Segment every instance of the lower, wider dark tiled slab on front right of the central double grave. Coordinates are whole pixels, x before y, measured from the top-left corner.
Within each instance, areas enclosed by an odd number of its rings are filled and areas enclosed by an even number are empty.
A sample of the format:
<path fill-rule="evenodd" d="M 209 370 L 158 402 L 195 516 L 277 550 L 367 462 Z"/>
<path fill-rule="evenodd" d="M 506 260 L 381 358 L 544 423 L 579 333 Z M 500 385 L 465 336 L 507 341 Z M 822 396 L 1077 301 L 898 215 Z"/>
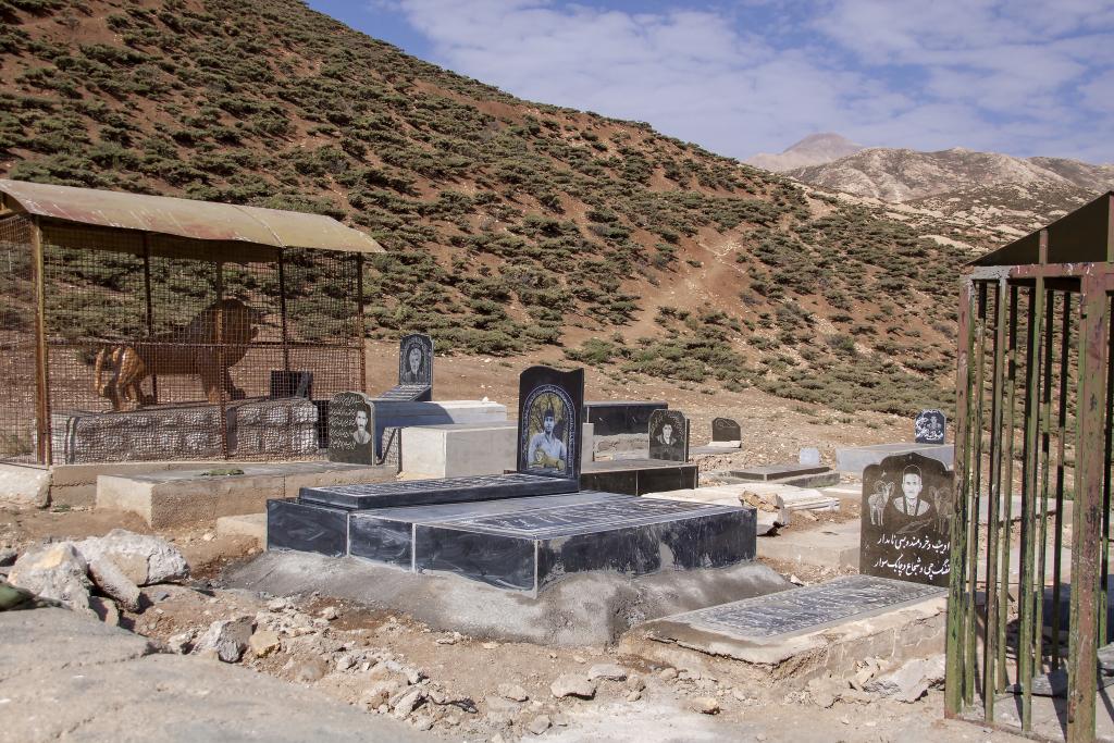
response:
<path fill-rule="evenodd" d="M 579 492 L 352 514 L 352 554 L 537 593 L 565 575 L 723 567 L 754 558 L 753 509 Z"/>

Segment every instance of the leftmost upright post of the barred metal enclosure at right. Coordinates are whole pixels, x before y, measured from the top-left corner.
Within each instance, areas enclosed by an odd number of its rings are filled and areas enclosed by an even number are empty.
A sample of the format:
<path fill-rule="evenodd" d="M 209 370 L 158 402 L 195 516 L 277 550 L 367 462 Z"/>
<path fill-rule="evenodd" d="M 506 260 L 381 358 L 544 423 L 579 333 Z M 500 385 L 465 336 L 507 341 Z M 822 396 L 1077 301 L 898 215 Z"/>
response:
<path fill-rule="evenodd" d="M 959 296 L 959 344 L 956 354 L 956 462 L 958 477 L 952 493 L 951 554 L 948 558 L 948 632 L 945 666 L 944 704 L 948 715 L 958 715 L 964 707 L 966 672 L 967 614 L 974 597 L 964 592 L 967 579 L 967 534 L 969 530 L 968 487 L 970 472 L 971 395 L 974 375 L 971 354 L 975 345 L 975 293 L 970 280 L 964 282 Z M 977 430 L 977 429 L 976 429 Z M 976 519 L 977 526 L 977 519 Z"/>

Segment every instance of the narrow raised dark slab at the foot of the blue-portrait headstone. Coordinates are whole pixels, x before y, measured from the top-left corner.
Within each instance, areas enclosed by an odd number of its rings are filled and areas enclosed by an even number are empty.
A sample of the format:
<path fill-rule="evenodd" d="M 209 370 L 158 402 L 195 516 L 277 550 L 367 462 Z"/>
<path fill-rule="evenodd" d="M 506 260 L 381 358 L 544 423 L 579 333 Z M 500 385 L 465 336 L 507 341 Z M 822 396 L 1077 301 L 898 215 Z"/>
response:
<path fill-rule="evenodd" d="M 576 482 L 563 478 L 516 472 L 302 488 L 299 500 L 355 510 L 547 496 L 576 490 Z"/>

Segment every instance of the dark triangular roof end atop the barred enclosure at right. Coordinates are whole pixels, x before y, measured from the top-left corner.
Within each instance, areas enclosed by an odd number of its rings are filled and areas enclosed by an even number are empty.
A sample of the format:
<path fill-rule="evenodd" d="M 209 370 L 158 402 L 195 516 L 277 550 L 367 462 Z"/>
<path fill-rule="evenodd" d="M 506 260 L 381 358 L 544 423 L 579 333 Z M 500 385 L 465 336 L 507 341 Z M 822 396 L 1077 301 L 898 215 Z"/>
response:
<path fill-rule="evenodd" d="M 1104 263 L 1114 257 L 1114 192 L 1106 192 L 1049 224 L 1048 263 Z M 973 266 L 1020 266 L 1040 262 L 1040 231 L 987 253 Z"/>

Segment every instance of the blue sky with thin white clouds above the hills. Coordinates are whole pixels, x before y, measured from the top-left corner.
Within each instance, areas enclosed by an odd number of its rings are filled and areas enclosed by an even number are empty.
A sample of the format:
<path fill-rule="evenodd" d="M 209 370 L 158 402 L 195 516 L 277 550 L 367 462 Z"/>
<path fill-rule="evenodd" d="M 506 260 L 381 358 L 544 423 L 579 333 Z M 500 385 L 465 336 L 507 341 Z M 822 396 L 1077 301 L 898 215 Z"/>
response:
<path fill-rule="evenodd" d="M 1114 162 L 1114 0 L 309 0 L 540 102 L 723 155 L 864 145 Z"/>

